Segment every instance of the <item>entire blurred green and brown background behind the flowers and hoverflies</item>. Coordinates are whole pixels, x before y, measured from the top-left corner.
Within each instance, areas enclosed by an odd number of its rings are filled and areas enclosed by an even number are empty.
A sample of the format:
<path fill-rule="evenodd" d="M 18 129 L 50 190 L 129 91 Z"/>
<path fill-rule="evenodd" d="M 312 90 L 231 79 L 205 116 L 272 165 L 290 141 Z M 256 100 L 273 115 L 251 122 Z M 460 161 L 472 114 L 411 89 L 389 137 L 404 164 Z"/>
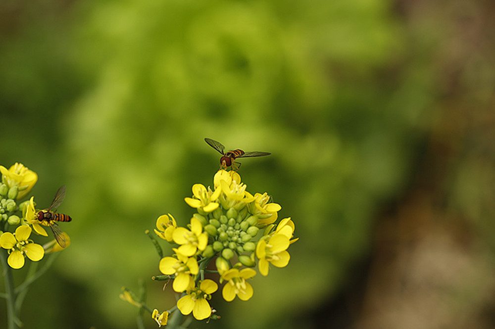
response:
<path fill-rule="evenodd" d="M 185 225 L 192 185 L 212 185 L 204 137 L 272 153 L 239 172 L 300 240 L 251 300 L 214 295 L 222 319 L 191 328 L 493 328 L 494 13 L 483 0 L 2 1 L 0 162 L 39 174 L 41 207 L 65 184 L 74 219 L 24 328 L 136 328 L 118 295 L 139 279 L 150 307 L 170 307 L 144 231 L 166 213 Z"/>

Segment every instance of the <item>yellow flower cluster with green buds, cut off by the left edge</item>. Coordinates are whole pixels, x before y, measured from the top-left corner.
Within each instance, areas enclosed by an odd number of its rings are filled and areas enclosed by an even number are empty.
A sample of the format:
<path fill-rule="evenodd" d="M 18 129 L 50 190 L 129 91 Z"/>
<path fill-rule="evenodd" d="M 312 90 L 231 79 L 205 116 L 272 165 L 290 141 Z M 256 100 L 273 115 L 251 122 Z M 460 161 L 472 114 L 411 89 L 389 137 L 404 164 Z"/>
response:
<path fill-rule="evenodd" d="M 38 175 L 20 163 L 15 163 L 9 169 L 0 166 L 0 173 L 0 225 L 3 230 L 0 231 L 0 247 L 7 250 L 7 264 L 13 269 L 20 269 L 26 257 L 36 262 L 45 253 L 61 250 L 54 247 L 53 243 L 44 247 L 30 238 L 33 230 L 38 235 L 48 236 L 40 224 L 51 224 L 36 219 L 34 197 L 18 203 L 18 200 L 29 194 L 38 181 Z M 69 241 L 68 236 L 63 235 Z"/>

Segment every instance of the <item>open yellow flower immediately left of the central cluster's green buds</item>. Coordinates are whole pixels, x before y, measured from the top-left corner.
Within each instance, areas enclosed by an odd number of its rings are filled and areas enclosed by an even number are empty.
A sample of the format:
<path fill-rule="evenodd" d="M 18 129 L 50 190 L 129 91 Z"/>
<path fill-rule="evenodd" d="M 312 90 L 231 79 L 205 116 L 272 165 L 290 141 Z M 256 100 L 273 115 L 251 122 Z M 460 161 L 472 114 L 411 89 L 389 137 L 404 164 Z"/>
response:
<path fill-rule="evenodd" d="M 177 253 L 184 256 L 192 256 L 197 250 L 203 251 L 208 244 L 208 234 L 203 232 L 201 223 L 196 218 L 191 218 L 191 231 L 178 227 L 173 233 L 174 242 L 180 244 Z"/>

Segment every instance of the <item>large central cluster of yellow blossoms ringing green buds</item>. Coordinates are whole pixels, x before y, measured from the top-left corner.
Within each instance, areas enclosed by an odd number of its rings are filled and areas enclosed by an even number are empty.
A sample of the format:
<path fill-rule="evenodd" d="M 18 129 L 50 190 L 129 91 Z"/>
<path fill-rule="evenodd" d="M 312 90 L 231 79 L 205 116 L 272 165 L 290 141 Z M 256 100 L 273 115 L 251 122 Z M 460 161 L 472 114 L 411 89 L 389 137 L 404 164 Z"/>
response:
<path fill-rule="evenodd" d="M 230 302 L 239 297 L 248 300 L 253 288 L 247 282 L 259 273 L 268 275 L 270 264 L 285 267 L 289 263 L 289 245 L 297 240 L 294 222 L 282 219 L 278 225 L 278 211 L 267 193 L 252 195 L 241 183 L 235 171 L 219 170 L 213 180 L 213 189 L 201 184 L 193 186 L 193 197 L 186 197 L 188 205 L 196 209 L 187 228 L 177 227 L 170 214 L 156 221 L 156 235 L 177 247 L 175 254 L 163 257 L 159 270 L 173 279 L 172 288 L 182 293 L 176 308 L 183 314 L 193 313 L 197 320 L 211 317 L 208 300 L 222 288 L 223 298 Z M 218 283 L 205 279 L 208 264 L 215 260 Z M 211 271 L 209 271 L 211 272 Z M 154 310 L 152 318 L 159 326 L 166 324 L 169 311 Z"/>

